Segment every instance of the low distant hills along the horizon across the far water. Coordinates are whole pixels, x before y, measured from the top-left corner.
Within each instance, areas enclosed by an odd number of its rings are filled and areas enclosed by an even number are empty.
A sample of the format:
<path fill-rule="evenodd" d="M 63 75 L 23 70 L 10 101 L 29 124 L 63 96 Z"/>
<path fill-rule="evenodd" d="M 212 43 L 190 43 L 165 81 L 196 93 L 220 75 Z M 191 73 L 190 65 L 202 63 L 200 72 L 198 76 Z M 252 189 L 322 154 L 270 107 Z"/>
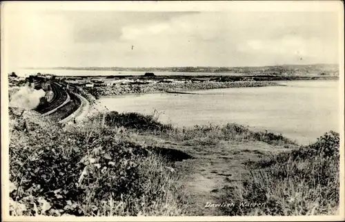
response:
<path fill-rule="evenodd" d="M 339 75 L 337 64 L 311 64 L 311 65 L 266 65 L 245 67 L 208 67 L 208 66 L 184 66 L 184 67 L 53 67 L 53 68 L 27 68 L 49 70 L 103 70 L 103 71 L 136 71 L 136 72 L 234 72 L 242 74 L 324 74 Z"/>

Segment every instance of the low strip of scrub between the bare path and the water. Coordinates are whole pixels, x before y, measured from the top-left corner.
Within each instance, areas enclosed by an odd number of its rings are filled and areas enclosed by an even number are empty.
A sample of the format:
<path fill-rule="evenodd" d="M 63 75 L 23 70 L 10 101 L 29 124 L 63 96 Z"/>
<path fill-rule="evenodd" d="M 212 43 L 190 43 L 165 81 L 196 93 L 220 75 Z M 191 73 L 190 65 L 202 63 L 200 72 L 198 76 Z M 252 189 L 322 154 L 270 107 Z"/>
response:
<path fill-rule="evenodd" d="M 105 114 L 97 114 L 93 119 L 102 119 L 105 117 L 106 125 L 123 126 L 126 129 L 139 130 L 139 132 L 148 132 L 149 134 L 160 135 L 178 141 L 184 141 L 190 145 L 204 144 L 214 145 L 219 140 L 237 140 L 237 141 L 263 141 L 272 145 L 297 145 L 282 134 L 272 132 L 254 132 L 235 123 L 219 125 L 195 125 L 193 128 L 173 128 L 170 124 L 160 123 L 159 112 L 155 110 L 152 114 L 140 114 L 137 112 L 119 113 L 116 111 Z"/>

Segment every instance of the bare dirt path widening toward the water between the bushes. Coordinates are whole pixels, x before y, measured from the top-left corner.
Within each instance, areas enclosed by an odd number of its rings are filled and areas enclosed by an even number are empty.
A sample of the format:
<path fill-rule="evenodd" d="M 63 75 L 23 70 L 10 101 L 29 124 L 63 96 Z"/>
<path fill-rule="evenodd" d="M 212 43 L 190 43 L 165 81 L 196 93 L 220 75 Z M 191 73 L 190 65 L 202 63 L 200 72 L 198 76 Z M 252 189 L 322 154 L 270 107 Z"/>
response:
<path fill-rule="evenodd" d="M 224 203 L 224 187 L 242 181 L 247 173 L 244 163 L 281 152 L 282 147 L 260 141 L 219 141 L 215 145 L 184 145 L 152 137 L 152 144 L 186 152 L 194 159 L 174 163 L 184 178 L 180 181 L 188 193 L 188 214 L 191 216 L 224 216 L 221 208 L 206 207 L 210 203 Z M 226 200 L 230 203 L 231 200 Z"/>

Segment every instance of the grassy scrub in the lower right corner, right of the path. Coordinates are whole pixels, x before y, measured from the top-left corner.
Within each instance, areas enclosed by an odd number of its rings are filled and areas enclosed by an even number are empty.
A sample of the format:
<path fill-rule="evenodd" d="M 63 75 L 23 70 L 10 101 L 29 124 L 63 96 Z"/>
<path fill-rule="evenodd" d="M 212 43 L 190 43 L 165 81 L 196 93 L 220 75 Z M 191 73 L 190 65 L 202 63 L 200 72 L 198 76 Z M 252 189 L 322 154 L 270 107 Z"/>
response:
<path fill-rule="evenodd" d="M 339 213 L 339 134 L 328 132 L 312 145 L 248 162 L 243 183 L 226 188 L 223 208 L 241 215 L 334 215 Z M 253 208 L 246 203 L 265 203 Z"/>

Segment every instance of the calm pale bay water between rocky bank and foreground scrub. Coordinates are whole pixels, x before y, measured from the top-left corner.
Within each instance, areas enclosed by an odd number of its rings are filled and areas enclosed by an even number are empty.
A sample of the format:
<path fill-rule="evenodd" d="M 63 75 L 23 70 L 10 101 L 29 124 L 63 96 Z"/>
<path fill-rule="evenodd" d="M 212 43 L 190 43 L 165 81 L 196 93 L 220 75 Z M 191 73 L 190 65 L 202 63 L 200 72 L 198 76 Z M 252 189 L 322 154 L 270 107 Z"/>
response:
<path fill-rule="evenodd" d="M 299 143 L 324 132 L 339 132 L 339 81 L 286 81 L 286 86 L 195 91 L 198 94 L 144 94 L 105 97 L 109 110 L 150 114 L 177 126 L 239 123 L 282 133 Z"/>

